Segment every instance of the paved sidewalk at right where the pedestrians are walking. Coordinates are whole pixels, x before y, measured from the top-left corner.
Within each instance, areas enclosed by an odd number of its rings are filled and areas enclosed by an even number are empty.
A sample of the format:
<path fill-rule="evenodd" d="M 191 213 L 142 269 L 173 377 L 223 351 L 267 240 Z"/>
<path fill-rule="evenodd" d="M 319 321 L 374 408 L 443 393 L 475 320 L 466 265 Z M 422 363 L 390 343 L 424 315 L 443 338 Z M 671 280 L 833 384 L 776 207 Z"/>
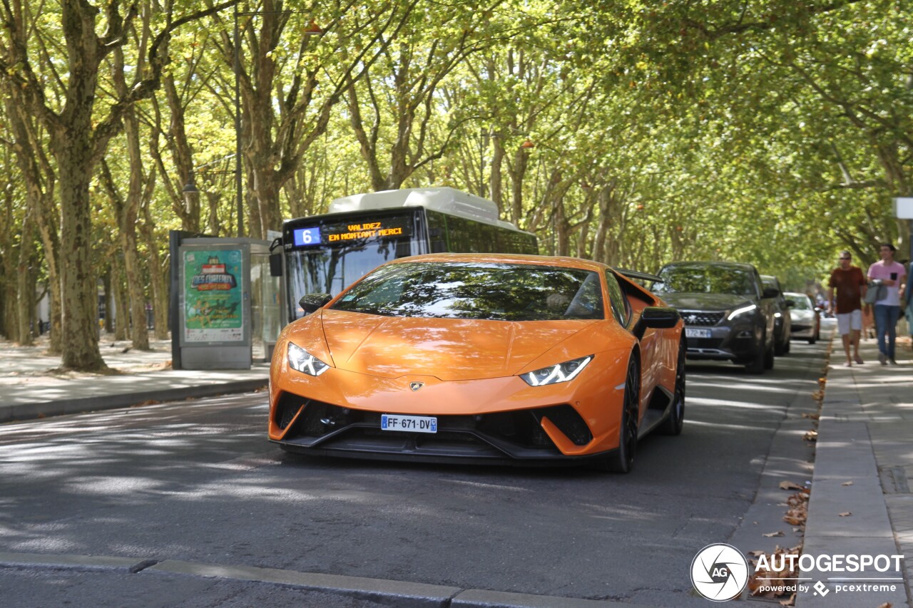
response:
<path fill-rule="evenodd" d="M 913 605 L 913 351 L 908 340 L 898 341 L 897 365 L 878 363 L 875 340 L 863 341 L 860 353 L 866 363 L 845 367 L 840 336 L 834 336 L 803 554 L 906 560 L 901 571 L 803 573 L 826 590 L 800 593 L 796 605 L 802 608 Z M 896 590 L 842 591 L 848 584 L 894 584 Z"/>

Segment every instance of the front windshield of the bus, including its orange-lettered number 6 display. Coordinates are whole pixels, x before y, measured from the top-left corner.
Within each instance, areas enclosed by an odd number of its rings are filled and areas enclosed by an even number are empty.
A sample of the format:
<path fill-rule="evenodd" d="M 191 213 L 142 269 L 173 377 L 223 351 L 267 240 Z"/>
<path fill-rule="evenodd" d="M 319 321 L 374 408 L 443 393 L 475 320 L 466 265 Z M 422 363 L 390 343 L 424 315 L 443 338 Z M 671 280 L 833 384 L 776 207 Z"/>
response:
<path fill-rule="evenodd" d="M 303 316 L 298 300 L 310 293 L 336 296 L 384 262 L 427 253 L 421 215 L 332 216 L 287 229 L 286 287 L 290 319 Z"/>

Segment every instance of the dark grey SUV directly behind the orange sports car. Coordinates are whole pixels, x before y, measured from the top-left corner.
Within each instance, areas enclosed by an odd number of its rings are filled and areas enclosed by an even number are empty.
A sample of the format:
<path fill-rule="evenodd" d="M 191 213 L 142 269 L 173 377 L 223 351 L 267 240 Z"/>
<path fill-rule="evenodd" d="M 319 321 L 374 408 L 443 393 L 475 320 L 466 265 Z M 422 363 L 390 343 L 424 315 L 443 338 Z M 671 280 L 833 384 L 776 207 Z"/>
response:
<path fill-rule="evenodd" d="M 774 299 L 757 268 L 736 262 L 675 262 L 654 293 L 685 321 L 688 359 L 729 360 L 749 372 L 773 368 Z"/>

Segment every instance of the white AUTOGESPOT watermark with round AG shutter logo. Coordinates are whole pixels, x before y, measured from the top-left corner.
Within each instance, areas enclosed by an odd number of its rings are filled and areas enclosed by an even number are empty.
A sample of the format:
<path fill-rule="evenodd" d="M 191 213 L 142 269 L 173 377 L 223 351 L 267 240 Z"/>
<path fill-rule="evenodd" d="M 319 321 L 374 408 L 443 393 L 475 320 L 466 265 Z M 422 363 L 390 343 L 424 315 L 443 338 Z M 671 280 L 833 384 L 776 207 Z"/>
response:
<path fill-rule="evenodd" d="M 903 555 L 774 553 L 761 554 L 754 563 L 760 573 L 757 593 L 778 595 L 811 592 L 824 597 L 836 593 L 897 592 L 903 583 Z M 856 576 L 826 576 L 824 581 L 809 572 L 826 574 L 855 574 Z M 783 576 L 798 573 L 798 576 Z M 893 575 L 893 576 L 892 576 Z M 749 562 L 735 547 L 716 543 L 698 551 L 691 561 L 691 584 L 711 602 L 728 602 L 741 595 L 750 579 Z M 769 583 L 766 583 L 769 581 Z M 752 589 L 755 589 L 752 583 Z"/>

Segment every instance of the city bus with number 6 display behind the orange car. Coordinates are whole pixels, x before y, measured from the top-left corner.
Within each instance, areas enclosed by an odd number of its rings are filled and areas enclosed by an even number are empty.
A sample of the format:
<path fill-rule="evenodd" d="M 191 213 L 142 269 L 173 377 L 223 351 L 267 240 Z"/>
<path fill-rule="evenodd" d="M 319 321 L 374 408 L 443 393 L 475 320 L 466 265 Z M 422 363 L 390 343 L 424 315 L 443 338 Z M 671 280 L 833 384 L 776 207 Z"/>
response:
<path fill-rule="evenodd" d="M 536 236 L 498 219 L 488 199 L 453 188 L 352 194 L 328 213 L 282 225 L 282 274 L 289 320 L 302 296 L 339 294 L 386 261 L 426 253 L 538 254 Z"/>

